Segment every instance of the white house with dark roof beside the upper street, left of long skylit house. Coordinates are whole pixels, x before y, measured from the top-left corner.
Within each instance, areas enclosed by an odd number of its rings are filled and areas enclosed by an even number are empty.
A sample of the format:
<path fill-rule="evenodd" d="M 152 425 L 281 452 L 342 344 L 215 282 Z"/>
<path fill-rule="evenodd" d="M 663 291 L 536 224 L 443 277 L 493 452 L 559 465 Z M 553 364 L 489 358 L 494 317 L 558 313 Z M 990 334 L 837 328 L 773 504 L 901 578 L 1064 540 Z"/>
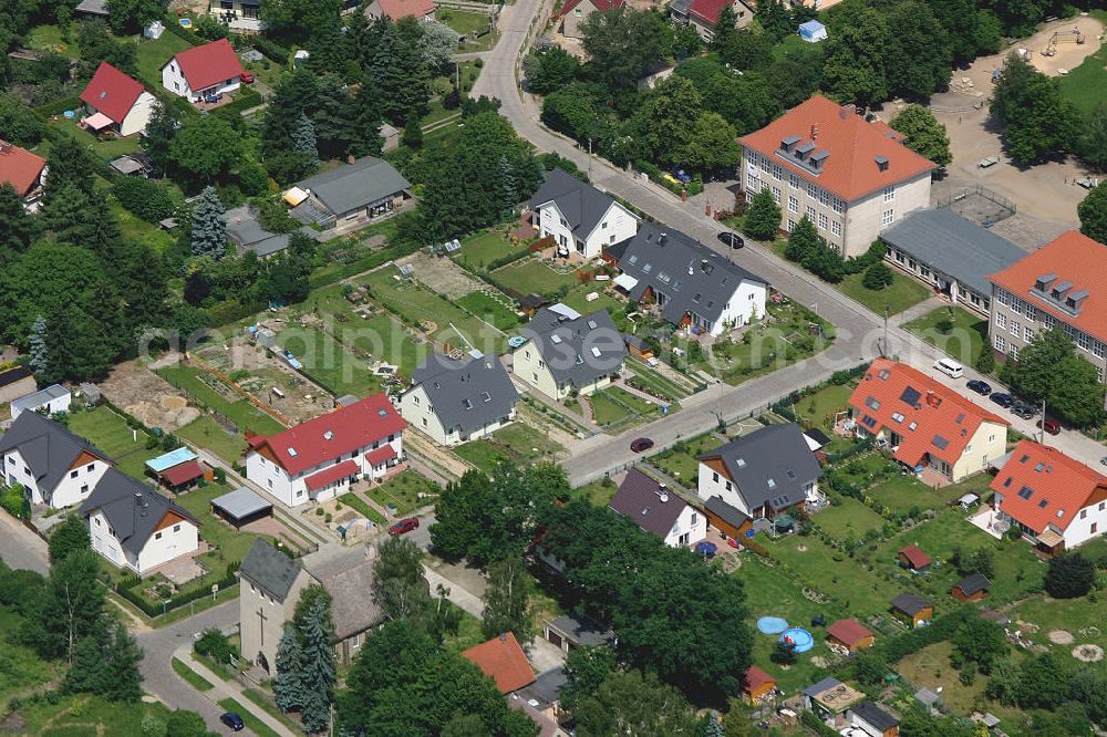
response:
<path fill-rule="evenodd" d="M 530 210 L 539 236 L 552 237 L 563 257 L 596 258 L 638 231 L 633 212 L 565 169 L 550 172 L 530 198 Z"/>

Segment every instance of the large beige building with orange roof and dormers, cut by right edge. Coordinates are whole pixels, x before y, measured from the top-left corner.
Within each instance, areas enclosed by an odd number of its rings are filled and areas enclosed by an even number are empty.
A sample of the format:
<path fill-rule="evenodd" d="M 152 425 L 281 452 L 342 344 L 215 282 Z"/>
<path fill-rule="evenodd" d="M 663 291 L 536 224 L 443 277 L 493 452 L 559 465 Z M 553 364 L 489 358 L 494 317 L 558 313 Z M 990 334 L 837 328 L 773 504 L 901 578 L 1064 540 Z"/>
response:
<path fill-rule="evenodd" d="M 1107 369 L 1107 246 L 1069 230 L 989 277 L 996 353 L 1018 352 L 1042 331 L 1061 325 L 1077 353 Z"/>

